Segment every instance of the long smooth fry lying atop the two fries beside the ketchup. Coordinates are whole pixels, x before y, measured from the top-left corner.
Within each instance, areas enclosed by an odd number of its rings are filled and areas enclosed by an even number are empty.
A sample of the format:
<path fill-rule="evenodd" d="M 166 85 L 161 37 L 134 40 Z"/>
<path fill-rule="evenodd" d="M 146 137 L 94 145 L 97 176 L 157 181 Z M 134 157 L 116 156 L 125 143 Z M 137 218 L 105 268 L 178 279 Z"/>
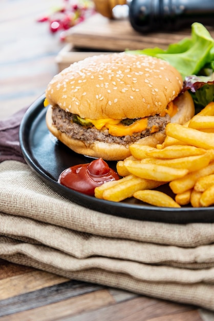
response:
<path fill-rule="evenodd" d="M 138 177 L 158 180 L 159 182 L 170 182 L 170 180 L 183 177 L 188 173 L 187 169 L 172 168 L 152 163 L 140 164 L 132 160 L 127 160 L 125 167 L 130 173 Z"/>

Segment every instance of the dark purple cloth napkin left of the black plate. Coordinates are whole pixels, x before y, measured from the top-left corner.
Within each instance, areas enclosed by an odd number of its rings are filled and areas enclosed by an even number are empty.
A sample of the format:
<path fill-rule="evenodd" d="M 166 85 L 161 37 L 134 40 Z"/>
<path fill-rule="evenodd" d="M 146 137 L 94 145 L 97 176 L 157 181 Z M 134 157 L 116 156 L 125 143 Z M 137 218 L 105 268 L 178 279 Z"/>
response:
<path fill-rule="evenodd" d="M 0 121 L 0 163 L 4 160 L 18 160 L 25 163 L 19 145 L 19 126 L 28 108 L 23 108 L 4 121 Z"/>

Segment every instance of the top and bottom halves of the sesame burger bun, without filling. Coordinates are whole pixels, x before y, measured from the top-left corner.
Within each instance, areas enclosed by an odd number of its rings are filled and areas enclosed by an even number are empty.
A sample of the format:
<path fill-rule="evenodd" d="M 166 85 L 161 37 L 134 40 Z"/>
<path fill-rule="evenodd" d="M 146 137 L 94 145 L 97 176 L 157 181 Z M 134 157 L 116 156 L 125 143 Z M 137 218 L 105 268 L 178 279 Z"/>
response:
<path fill-rule="evenodd" d="M 129 145 L 69 137 L 56 128 L 53 106 L 66 113 L 93 120 L 101 118 L 143 118 L 164 114 L 169 102 L 180 94 L 180 73 L 167 62 L 146 55 L 115 53 L 88 57 L 57 74 L 46 90 L 49 102 L 46 122 L 59 141 L 77 153 L 105 160 L 121 160 L 130 155 Z M 195 112 L 188 92 L 176 100 L 177 114 L 171 122 L 184 124 Z M 139 139 L 143 145 L 156 146 L 165 130 Z"/>

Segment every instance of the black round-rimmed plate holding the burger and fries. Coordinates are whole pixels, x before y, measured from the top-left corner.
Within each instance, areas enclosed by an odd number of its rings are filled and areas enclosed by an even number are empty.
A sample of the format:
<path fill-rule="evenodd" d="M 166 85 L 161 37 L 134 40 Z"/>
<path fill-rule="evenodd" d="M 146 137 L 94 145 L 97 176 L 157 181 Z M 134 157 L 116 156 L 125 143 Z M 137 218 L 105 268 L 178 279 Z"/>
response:
<path fill-rule="evenodd" d="M 140 203 L 133 197 L 116 203 L 73 191 L 60 185 L 59 174 L 66 168 L 91 162 L 92 158 L 74 153 L 49 132 L 46 126 L 45 95 L 42 95 L 28 109 L 19 130 L 20 148 L 27 164 L 57 193 L 66 196 L 72 202 L 102 213 L 165 223 L 214 222 L 214 207 L 207 208 L 166 208 Z M 115 168 L 116 162 L 109 162 Z M 171 193 L 167 185 L 160 190 Z"/>

